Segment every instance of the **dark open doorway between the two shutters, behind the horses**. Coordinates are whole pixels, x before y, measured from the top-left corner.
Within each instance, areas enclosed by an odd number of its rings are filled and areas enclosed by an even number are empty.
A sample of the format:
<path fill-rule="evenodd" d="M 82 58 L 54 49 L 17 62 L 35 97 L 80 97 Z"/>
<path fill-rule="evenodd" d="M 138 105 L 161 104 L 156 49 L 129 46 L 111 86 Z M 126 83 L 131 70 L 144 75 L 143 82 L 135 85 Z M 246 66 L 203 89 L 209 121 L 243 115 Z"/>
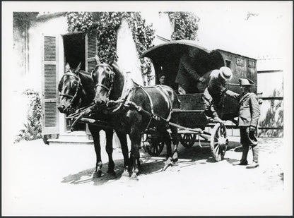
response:
<path fill-rule="evenodd" d="M 64 67 L 69 63 L 76 68 L 81 62 L 81 70 L 85 71 L 85 37 L 82 33 L 64 35 Z M 71 120 L 66 119 L 66 131 L 70 131 Z M 77 123 L 74 131 L 86 131 L 86 124 Z"/>

